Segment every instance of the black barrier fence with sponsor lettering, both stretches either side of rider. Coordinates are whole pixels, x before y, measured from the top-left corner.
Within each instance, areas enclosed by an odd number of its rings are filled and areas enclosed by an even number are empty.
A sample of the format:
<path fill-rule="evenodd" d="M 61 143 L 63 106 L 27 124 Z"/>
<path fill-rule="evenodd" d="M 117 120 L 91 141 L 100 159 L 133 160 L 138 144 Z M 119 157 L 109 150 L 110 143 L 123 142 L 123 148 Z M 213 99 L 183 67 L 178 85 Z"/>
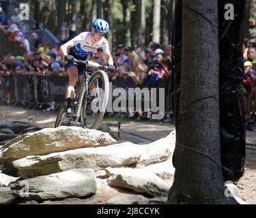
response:
<path fill-rule="evenodd" d="M 6 78 L 5 78 L 6 80 Z M 66 101 L 66 87 L 68 85 L 68 76 L 42 76 L 42 75 L 17 75 L 7 79 L 9 81 L 8 91 L 13 105 L 23 104 L 27 108 L 37 108 L 38 105 L 53 104 L 55 108 L 61 106 Z M 132 80 L 118 78 L 112 82 L 113 90 L 116 88 L 126 89 L 128 94 L 129 88 L 153 88 L 147 84 L 138 86 Z M 159 83 L 154 88 L 165 88 L 165 112 L 171 112 L 171 97 L 168 96 L 168 80 Z M 113 91 L 112 90 L 112 91 Z M 5 87 L 6 91 L 6 87 Z M 0 90 L 0 99 L 3 99 L 3 84 Z M 112 94 L 112 93 L 110 93 Z M 134 95 L 136 98 L 137 96 Z M 113 97 L 115 99 L 116 97 Z M 142 94 L 142 105 L 144 101 L 150 101 L 150 96 Z M 159 100 L 157 99 L 157 102 Z"/>

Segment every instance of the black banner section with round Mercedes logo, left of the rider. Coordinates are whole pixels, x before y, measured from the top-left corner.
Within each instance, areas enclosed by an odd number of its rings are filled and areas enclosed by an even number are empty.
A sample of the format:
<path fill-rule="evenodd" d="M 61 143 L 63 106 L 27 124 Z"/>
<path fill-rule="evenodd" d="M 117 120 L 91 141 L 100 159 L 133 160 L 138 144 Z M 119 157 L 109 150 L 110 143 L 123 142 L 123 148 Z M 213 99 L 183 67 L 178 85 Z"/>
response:
<path fill-rule="evenodd" d="M 66 76 L 36 76 L 38 102 L 62 104 L 66 101 L 67 85 L 68 77 Z"/>

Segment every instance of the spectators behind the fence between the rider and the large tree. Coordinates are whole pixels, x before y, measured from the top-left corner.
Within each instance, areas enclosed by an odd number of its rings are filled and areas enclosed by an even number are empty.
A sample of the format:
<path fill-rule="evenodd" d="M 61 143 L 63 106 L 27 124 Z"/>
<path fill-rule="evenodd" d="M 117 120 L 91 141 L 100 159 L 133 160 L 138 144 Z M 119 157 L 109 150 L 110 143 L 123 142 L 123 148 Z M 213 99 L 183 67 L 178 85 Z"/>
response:
<path fill-rule="evenodd" d="M 104 60 L 103 60 L 104 61 Z M 113 82 L 113 88 L 147 87 L 165 89 L 165 116 L 161 121 L 169 123 L 171 121 L 171 45 L 162 48 L 160 44 L 150 42 L 147 48 L 141 50 L 138 46 L 117 46 L 114 53 L 116 71 L 109 73 L 109 80 Z M 159 92 L 158 92 L 159 94 Z M 146 96 L 143 96 L 143 101 Z M 157 95 L 156 103 L 159 104 Z M 143 104 L 143 102 L 142 102 Z M 128 116 L 135 119 L 152 119 L 152 112 L 119 112 L 110 113 L 109 116 Z"/>

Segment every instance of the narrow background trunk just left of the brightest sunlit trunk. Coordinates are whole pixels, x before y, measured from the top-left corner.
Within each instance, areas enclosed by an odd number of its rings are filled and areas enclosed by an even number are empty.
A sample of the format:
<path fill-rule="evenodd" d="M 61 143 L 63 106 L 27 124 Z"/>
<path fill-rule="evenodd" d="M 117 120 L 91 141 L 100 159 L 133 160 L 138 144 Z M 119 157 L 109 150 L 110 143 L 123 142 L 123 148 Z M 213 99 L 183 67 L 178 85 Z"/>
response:
<path fill-rule="evenodd" d="M 145 28 L 146 28 L 146 18 L 145 18 L 145 0 L 138 0 L 138 41 L 137 44 L 141 47 L 145 46 Z"/>

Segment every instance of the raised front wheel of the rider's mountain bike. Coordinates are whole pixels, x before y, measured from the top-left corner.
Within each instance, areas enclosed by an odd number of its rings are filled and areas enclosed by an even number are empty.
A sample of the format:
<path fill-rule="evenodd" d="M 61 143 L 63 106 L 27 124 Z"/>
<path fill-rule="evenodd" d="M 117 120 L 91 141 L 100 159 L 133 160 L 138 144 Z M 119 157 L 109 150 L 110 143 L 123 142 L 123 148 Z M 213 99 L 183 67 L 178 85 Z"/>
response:
<path fill-rule="evenodd" d="M 88 129 L 97 129 L 100 125 L 109 100 L 109 78 L 106 72 L 99 70 L 91 76 L 88 95 L 83 98 L 81 122 Z"/>

